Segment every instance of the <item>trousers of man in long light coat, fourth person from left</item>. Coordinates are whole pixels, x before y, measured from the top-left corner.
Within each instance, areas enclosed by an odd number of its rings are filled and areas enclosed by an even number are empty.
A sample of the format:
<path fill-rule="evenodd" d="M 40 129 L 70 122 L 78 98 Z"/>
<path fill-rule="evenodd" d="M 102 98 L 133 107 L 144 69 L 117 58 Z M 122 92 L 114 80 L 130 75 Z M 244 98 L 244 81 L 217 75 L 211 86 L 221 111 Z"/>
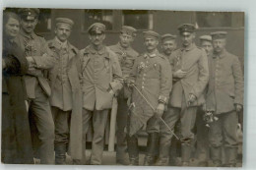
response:
<path fill-rule="evenodd" d="M 108 118 L 109 109 L 105 110 L 95 110 L 90 111 L 83 109 L 83 143 L 84 148 L 86 148 L 86 135 L 89 130 L 90 119 L 93 119 L 93 142 L 92 142 L 92 155 L 91 164 L 100 165 L 102 162 L 102 154 L 104 148 L 104 132 L 106 127 L 106 122 Z M 83 151 L 85 152 L 85 151 Z M 85 157 L 85 155 L 84 155 Z"/>

